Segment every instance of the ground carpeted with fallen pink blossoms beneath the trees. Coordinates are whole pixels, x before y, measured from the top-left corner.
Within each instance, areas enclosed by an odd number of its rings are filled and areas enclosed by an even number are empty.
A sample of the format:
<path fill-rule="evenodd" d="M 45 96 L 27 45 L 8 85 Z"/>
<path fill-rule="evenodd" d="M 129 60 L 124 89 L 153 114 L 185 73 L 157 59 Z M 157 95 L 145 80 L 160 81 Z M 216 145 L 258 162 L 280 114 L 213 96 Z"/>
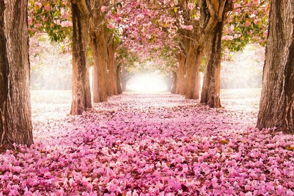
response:
<path fill-rule="evenodd" d="M 72 117 L 70 91 L 33 91 L 35 144 L 0 155 L 0 196 L 294 196 L 294 136 L 254 128 L 259 94 L 124 94 Z"/>

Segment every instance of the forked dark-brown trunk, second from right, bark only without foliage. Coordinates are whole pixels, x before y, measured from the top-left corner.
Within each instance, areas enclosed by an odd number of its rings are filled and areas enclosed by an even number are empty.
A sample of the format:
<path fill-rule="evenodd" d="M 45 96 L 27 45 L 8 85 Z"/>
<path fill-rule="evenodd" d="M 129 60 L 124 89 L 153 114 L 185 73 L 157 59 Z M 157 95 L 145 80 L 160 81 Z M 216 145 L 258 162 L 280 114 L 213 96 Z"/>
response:
<path fill-rule="evenodd" d="M 221 36 L 226 13 L 233 9 L 232 0 L 201 0 L 200 18 L 206 49 L 206 64 L 200 103 L 209 107 L 221 107 L 220 74 L 221 74 Z"/>

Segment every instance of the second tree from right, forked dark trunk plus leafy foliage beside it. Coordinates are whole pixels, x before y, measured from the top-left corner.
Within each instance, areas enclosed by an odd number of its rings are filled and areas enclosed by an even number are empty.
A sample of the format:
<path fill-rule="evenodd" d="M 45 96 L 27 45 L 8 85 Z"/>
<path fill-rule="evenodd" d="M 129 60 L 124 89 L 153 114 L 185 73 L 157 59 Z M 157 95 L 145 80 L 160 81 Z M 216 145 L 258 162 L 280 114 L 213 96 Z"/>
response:
<path fill-rule="evenodd" d="M 241 50 L 248 43 L 266 43 L 268 0 L 201 0 L 200 13 L 205 35 L 206 65 L 200 103 L 221 107 L 221 46 Z M 230 26 L 222 36 L 225 24 Z M 233 34 L 233 35 L 230 35 Z M 221 42 L 221 38 L 226 42 Z"/>

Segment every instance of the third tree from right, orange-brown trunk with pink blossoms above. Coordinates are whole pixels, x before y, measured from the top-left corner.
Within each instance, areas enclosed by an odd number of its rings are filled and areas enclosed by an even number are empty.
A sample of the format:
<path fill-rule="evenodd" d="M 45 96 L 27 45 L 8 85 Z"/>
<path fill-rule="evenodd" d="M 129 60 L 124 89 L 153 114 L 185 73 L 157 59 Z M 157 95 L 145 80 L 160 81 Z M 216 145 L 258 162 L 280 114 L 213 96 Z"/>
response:
<path fill-rule="evenodd" d="M 177 26 L 175 37 L 180 40 L 181 52 L 178 56 L 178 86 L 175 93 L 189 99 L 199 98 L 199 68 L 204 51 L 198 4 L 197 0 L 178 1 L 171 7 L 174 13 L 170 12 L 174 26 Z"/>

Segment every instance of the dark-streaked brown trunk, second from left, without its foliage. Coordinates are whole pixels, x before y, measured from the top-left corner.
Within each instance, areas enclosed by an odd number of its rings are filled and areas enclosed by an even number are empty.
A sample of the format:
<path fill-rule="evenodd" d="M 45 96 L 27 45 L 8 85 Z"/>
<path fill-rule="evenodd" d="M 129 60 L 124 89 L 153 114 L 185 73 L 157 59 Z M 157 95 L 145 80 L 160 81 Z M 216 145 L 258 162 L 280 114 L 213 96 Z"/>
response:
<path fill-rule="evenodd" d="M 73 101 L 71 115 L 80 115 L 92 108 L 89 64 L 87 58 L 88 18 L 82 4 L 72 1 L 73 20 Z M 87 6 L 87 5 L 86 5 Z"/>

